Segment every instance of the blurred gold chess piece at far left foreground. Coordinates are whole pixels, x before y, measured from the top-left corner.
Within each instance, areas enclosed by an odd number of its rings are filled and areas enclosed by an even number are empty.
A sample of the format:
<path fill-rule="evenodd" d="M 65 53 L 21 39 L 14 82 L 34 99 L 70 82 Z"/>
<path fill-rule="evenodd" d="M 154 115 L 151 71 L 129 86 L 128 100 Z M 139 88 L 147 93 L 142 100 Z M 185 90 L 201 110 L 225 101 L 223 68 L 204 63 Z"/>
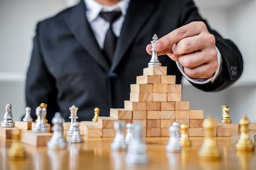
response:
<path fill-rule="evenodd" d="M 9 159 L 19 160 L 25 159 L 25 150 L 20 143 L 21 130 L 12 130 L 13 141 L 10 149 L 8 150 Z"/>

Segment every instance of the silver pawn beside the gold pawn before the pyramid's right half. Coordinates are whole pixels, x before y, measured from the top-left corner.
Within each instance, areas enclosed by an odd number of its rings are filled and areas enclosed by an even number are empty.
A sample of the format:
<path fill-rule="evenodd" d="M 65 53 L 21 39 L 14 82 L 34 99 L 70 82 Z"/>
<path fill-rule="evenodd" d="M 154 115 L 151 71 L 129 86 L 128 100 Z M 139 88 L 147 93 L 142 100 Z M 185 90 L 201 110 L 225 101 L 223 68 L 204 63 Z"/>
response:
<path fill-rule="evenodd" d="M 166 150 L 168 152 L 180 152 L 180 144 L 179 144 L 179 138 L 177 137 L 177 131 L 179 128 L 177 126 L 170 126 L 170 139 L 168 141 L 168 144 L 166 145 Z"/>

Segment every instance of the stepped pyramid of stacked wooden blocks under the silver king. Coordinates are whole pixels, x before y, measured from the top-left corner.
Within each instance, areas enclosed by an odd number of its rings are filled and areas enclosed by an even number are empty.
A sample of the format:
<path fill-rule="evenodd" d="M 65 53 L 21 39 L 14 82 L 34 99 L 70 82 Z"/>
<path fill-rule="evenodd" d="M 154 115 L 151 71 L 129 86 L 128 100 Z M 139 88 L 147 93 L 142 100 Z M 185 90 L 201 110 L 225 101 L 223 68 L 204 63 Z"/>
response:
<path fill-rule="evenodd" d="M 143 137 L 168 137 L 168 128 L 177 121 L 188 124 L 189 136 L 204 136 L 203 110 L 189 110 L 189 102 L 182 101 L 182 86 L 175 84 L 175 75 L 167 75 L 167 67 L 153 66 L 143 69 L 136 84 L 130 85 L 130 100 L 124 108 L 111 108 L 110 117 L 98 117 L 98 122 L 85 123 L 87 137 L 115 137 L 114 121 L 126 123 L 140 121 Z M 231 136 L 231 129 L 218 127 L 214 136 Z"/>

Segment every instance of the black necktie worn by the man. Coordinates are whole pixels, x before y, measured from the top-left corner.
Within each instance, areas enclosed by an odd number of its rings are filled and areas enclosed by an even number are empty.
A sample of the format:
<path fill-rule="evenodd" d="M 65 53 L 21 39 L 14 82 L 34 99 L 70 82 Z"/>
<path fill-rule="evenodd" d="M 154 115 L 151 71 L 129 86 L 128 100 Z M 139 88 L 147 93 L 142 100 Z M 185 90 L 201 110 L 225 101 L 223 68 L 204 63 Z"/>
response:
<path fill-rule="evenodd" d="M 109 28 L 106 33 L 103 51 L 106 56 L 109 58 L 110 62 L 112 62 L 113 55 L 115 52 L 115 46 L 117 42 L 117 36 L 113 33 L 112 23 L 117 20 L 117 18 L 121 15 L 120 11 L 111 11 L 111 12 L 101 12 L 101 17 L 109 22 Z"/>

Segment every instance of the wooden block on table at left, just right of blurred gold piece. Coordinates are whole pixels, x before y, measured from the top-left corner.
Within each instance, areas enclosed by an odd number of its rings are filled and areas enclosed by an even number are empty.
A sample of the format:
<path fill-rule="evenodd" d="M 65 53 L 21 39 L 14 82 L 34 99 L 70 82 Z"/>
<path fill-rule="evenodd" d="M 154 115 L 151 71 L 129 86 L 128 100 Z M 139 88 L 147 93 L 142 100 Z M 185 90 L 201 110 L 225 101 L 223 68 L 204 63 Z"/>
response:
<path fill-rule="evenodd" d="M 51 139 L 52 133 L 36 133 L 32 131 L 22 131 L 20 141 L 31 146 L 47 146 Z"/>

